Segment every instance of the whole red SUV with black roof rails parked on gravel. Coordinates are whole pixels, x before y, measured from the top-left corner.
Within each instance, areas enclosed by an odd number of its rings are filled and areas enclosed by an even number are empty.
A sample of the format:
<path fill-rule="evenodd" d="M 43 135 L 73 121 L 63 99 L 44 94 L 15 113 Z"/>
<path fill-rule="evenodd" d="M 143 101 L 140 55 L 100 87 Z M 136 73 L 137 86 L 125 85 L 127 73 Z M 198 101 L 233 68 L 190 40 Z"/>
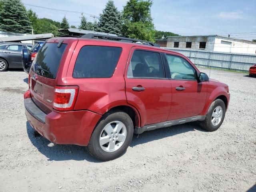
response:
<path fill-rule="evenodd" d="M 24 93 L 37 132 L 56 144 L 87 146 L 103 161 L 123 154 L 134 133 L 192 121 L 215 131 L 229 99 L 226 84 L 182 54 L 100 34 L 47 40 Z"/>

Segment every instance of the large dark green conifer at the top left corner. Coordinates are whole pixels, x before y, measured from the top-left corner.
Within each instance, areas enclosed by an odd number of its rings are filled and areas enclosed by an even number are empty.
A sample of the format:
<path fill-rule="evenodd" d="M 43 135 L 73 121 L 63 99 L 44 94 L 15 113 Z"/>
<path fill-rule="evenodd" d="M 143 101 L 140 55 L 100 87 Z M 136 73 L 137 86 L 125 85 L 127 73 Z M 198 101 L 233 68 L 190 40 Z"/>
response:
<path fill-rule="evenodd" d="M 31 33 L 31 22 L 20 0 L 2 0 L 0 30 L 15 33 Z"/>

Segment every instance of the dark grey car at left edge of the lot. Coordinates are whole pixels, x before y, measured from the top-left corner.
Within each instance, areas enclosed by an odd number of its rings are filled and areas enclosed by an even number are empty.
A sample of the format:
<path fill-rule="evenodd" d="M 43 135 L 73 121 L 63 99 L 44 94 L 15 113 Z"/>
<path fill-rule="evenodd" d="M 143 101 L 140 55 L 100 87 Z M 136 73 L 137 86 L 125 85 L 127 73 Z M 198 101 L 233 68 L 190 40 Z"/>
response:
<path fill-rule="evenodd" d="M 31 49 L 32 44 L 4 42 L 0 43 L 0 72 L 8 68 L 22 68 L 22 49 Z"/>

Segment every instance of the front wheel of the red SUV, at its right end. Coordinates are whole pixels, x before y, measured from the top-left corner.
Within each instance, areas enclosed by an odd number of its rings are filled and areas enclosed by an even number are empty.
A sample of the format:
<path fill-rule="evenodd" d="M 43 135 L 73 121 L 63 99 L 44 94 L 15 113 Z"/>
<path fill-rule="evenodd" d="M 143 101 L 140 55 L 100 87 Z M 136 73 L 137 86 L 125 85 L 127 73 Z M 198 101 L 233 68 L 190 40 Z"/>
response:
<path fill-rule="evenodd" d="M 218 111 L 218 109 L 220 110 L 221 108 L 222 108 L 222 116 L 220 119 L 220 112 L 219 112 L 219 116 L 218 116 L 218 113 L 216 114 L 216 112 Z M 214 119 L 214 117 L 212 117 L 214 115 L 213 112 L 217 116 L 217 119 L 216 118 Z M 218 128 L 220 128 L 220 126 L 225 118 L 225 114 L 226 114 L 225 103 L 221 99 L 216 99 L 210 105 L 210 108 L 208 109 L 205 120 L 201 121 L 200 125 L 202 126 L 203 129 L 205 129 L 207 131 L 210 131 L 210 132 L 216 131 Z M 212 120 L 213 120 L 213 122 L 212 122 Z"/>

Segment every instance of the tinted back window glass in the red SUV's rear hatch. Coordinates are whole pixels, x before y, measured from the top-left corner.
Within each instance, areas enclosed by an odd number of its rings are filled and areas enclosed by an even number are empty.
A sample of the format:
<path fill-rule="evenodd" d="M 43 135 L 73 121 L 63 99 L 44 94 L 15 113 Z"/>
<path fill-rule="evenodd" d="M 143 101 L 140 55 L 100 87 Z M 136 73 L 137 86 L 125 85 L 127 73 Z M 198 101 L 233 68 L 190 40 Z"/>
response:
<path fill-rule="evenodd" d="M 33 64 L 33 71 L 37 74 L 54 79 L 58 72 L 60 60 L 67 44 L 46 43 L 39 50 Z"/>

